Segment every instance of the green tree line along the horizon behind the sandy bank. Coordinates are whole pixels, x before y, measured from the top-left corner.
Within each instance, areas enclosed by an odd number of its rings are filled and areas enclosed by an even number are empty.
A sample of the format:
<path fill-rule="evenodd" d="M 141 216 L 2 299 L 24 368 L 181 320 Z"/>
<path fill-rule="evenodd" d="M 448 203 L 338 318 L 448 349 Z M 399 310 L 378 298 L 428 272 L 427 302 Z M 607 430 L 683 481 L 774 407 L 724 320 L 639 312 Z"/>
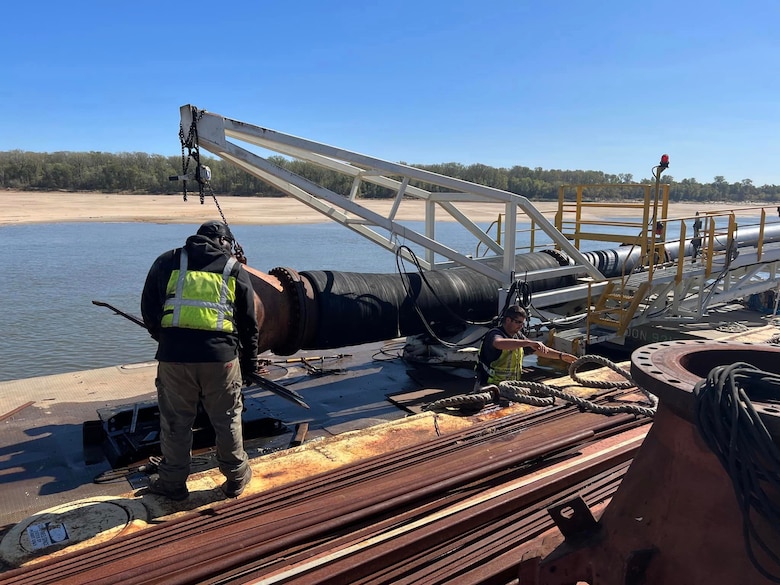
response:
<path fill-rule="evenodd" d="M 352 181 L 340 173 L 314 164 L 288 160 L 281 156 L 269 160 L 285 169 L 306 177 L 336 193 L 347 195 Z M 283 197 L 284 193 L 260 179 L 221 159 L 202 156 L 201 162 L 211 169 L 210 185 L 216 195 L 238 197 Z M 402 163 L 408 164 L 408 163 Z M 654 184 L 655 179 L 635 180 L 629 173 L 610 174 L 602 171 L 565 171 L 513 166 L 496 168 L 483 164 L 463 165 L 442 163 L 409 164 L 427 171 L 487 185 L 523 195 L 531 200 L 555 200 L 561 185 L 609 185 L 586 191 L 589 200 L 637 199 L 641 191 L 630 184 Z M 189 169 L 192 170 L 192 169 Z M 180 156 L 162 156 L 142 152 L 53 152 L 39 153 L 11 150 L 0 152 L 0 188 L 16 191 L 97 191 L 104 193 L 176 194 L 182 185 L 169 177 L 182 173 Z M 696 179 L 677 181 L 664 173 L 661 181 L 670 185 L 672 201 L 733 201 L 765 204 L 780 199 L 780 186 L 758 187 L 750 179 L 729 183 L 722 176 L 711 183 Z M 197 187 L 194 181 L 189 188 Z M 418 186 L 436 190 L 430 185 Z M 619 185 L 625 185 L 624 188 Z M 371 184 L 361 185 L 361 197 L 389 198 L 394 192 Z"/>

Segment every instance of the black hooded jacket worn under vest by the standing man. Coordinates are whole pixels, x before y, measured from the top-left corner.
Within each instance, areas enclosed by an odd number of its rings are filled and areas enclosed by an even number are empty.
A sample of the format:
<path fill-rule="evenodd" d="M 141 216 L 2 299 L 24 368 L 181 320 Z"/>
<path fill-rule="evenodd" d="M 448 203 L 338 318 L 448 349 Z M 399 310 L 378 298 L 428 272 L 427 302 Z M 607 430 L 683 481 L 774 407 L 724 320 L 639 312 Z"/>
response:
<path fill-rule="evenodd" d="M 204 236 L 190 236 L 187 249 L 188 270 L 222 274 L 228 254 Z M 236 277 L 236 332 L 201 331 L 179 327 L 161 327 L 166 287 L 171 272 L 179 268 L 181 248 L 169 250 L 154 261 L 146 276 L 141 295 L 141 315 L 152 337 L 159 342 L 155 357 L 161 362 L 228 362 L 239 356 L 242 361 L 257 358 L 257 313 L 255 294 L 247 273 L 238 262 Z"/>

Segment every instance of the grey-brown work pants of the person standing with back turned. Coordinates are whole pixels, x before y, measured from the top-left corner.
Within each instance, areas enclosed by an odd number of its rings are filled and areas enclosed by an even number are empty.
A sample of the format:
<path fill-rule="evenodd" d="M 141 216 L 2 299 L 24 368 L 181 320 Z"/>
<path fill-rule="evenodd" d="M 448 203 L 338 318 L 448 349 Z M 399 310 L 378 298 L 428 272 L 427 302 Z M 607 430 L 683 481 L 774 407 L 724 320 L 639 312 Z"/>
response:
<path fill-rule="evenodd" d="M 192 425 L 198 402 L 216 433 L 219 470 L 241 481 L 249 470 L 241 432 L 241 370 L 238 358 L 227 363 L 159 362 L 157 401 L 160 407 L 160 480 L 184 485 L 190 474 Z"/>

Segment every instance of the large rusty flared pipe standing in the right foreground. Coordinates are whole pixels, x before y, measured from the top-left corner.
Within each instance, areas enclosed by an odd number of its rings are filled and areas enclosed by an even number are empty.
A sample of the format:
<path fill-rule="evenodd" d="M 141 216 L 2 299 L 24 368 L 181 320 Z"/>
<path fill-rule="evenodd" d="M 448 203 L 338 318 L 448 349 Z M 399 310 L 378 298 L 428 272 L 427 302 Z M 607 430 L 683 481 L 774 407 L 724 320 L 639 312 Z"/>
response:
<path fill-rule="evenodd" d="M 597 524 L 571 536 L 556 551 L 534 559 L 523 583 L 777 583 L 780 534 L 775 523 L 747 506 L 744 477 L 760 481 L 763 509 L 780 502 L 768 470 L 746 463 L 762 451 L 739 443 L 734 477 L 703 439 L 697 422 L 697 385 L 718 367 L 748 364 L 780 373 L 780 347 L 721 341 L 672 341 L 646 345 L 631 356 L 631 376 L 659 398 L 658 412 L 642 448 Z M 746 394 L 777 443 L 777 397 Z M 763 399 L 763 403 L 762 400 Z M 744 421 L 747 423 L 747 419 Z M 737 444 L 749 428 L 719 421 L 723 439 Z M 742 423 L 743 427 L 749 424 Z M 731 454 L 730 454 L 731 456 Z M 769 461 L 769 459 L 765 459 Z M 736 496 L 736 497 L 735 497 Z M 750 505 L 754 496 L 750 496 Z M 580 515 L 580 520 L 584 514 Z M 572 517 L 576 520 L 576 513 Z M 746 519 L 750 528 L 746 529 Z M 761 546 L 756 545 L 758 537 Z"/>

